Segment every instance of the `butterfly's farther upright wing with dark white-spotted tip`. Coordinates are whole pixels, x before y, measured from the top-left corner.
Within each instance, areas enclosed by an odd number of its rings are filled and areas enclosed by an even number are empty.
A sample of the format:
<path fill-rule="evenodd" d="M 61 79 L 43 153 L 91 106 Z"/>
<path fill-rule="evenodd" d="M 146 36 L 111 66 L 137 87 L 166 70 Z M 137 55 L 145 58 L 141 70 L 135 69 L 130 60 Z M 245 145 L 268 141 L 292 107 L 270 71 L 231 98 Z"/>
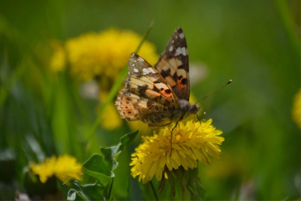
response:
<path fill-rule="evenodd" d="M 186 38 L 178 27 L 154 68 L 166 80 L 179 100 L 189 101 L 189 63 Z"/>

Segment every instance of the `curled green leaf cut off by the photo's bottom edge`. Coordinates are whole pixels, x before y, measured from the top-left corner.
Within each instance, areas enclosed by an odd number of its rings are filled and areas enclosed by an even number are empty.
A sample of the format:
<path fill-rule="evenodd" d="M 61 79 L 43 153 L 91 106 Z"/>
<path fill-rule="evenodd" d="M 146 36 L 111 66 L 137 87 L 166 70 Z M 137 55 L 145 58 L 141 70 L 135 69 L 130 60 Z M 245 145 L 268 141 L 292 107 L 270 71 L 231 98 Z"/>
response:
<path fill-rule="evenodd" d="M 85 201 L 98 201 L 104 200 L 103 193 L 104 189 L 97 183 L 94 184 L 87 184 L 84 186 L 79 185 L 78 181 L 73 182 L 79 190 L 70 189 L 68 192 L 67 200 L 85 200 Z"/>

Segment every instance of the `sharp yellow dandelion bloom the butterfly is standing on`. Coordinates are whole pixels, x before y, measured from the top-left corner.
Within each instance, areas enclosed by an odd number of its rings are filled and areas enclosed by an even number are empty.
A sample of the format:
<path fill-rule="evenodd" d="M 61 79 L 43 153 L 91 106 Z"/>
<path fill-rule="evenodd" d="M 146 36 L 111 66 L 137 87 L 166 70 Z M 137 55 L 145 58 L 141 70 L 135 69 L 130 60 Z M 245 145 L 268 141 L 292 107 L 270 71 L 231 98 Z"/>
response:
<path fill-rule="evenodd" d="M 132 176 L 139 175 L 139 181 L 146 183 L 155 174 L 157 180 L 161 180 L 165 167 L 172 171 L 182 166 L 187 171 L 188 168 L 197 168 L 197 161 L 210 164 L 209 155 L 219 159 L 221 150 L 218 145 L 224 138 L 219 136 L 222 131 L 216 130 L 211 123 L 212 119 L 203 120 L 201 124 L 194 120 L 179 123 L 173 131 L 171 156 L 170 134 L 173 126 L 160 129 L 160 135 L 143 137 L 144 142 L 131 155 Z"/>

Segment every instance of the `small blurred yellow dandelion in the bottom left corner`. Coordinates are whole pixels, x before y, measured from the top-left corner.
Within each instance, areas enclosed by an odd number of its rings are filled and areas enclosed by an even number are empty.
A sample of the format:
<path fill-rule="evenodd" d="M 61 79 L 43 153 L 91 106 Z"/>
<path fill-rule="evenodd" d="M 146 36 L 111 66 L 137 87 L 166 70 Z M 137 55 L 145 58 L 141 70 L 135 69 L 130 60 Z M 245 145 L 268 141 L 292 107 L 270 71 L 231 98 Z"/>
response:
<path fill-rule="evenodd" d="M 58 158 L 53 155 L 51 158 L 46 158 L 44 163 L 35 164 L 31 162 L 29 167 L 33 174 L 39 175 L 42 183 L 45 183 L 52 176 L 67 185 L 70 184 L 70 179 L 81 180 L 82 165 L 77 163 L 76 158 L 70 155 L 62 155 Z"/>

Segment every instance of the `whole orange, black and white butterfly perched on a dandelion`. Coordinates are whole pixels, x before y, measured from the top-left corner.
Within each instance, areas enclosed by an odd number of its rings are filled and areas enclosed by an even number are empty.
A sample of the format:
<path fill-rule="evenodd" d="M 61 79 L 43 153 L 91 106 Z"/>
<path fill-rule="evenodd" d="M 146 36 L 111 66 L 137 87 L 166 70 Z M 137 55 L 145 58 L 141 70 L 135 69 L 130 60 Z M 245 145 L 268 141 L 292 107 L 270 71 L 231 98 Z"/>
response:
<path fill-rule="evenodd" d="M 188 49 L 183 30 L 178 27 L 156 65 L 132 53 L 128 60 L 126 88 L 117 96 L 122 118 L 141 120 L 157 128 L 178 122 L 199 110 L 189 102 Z"/>

